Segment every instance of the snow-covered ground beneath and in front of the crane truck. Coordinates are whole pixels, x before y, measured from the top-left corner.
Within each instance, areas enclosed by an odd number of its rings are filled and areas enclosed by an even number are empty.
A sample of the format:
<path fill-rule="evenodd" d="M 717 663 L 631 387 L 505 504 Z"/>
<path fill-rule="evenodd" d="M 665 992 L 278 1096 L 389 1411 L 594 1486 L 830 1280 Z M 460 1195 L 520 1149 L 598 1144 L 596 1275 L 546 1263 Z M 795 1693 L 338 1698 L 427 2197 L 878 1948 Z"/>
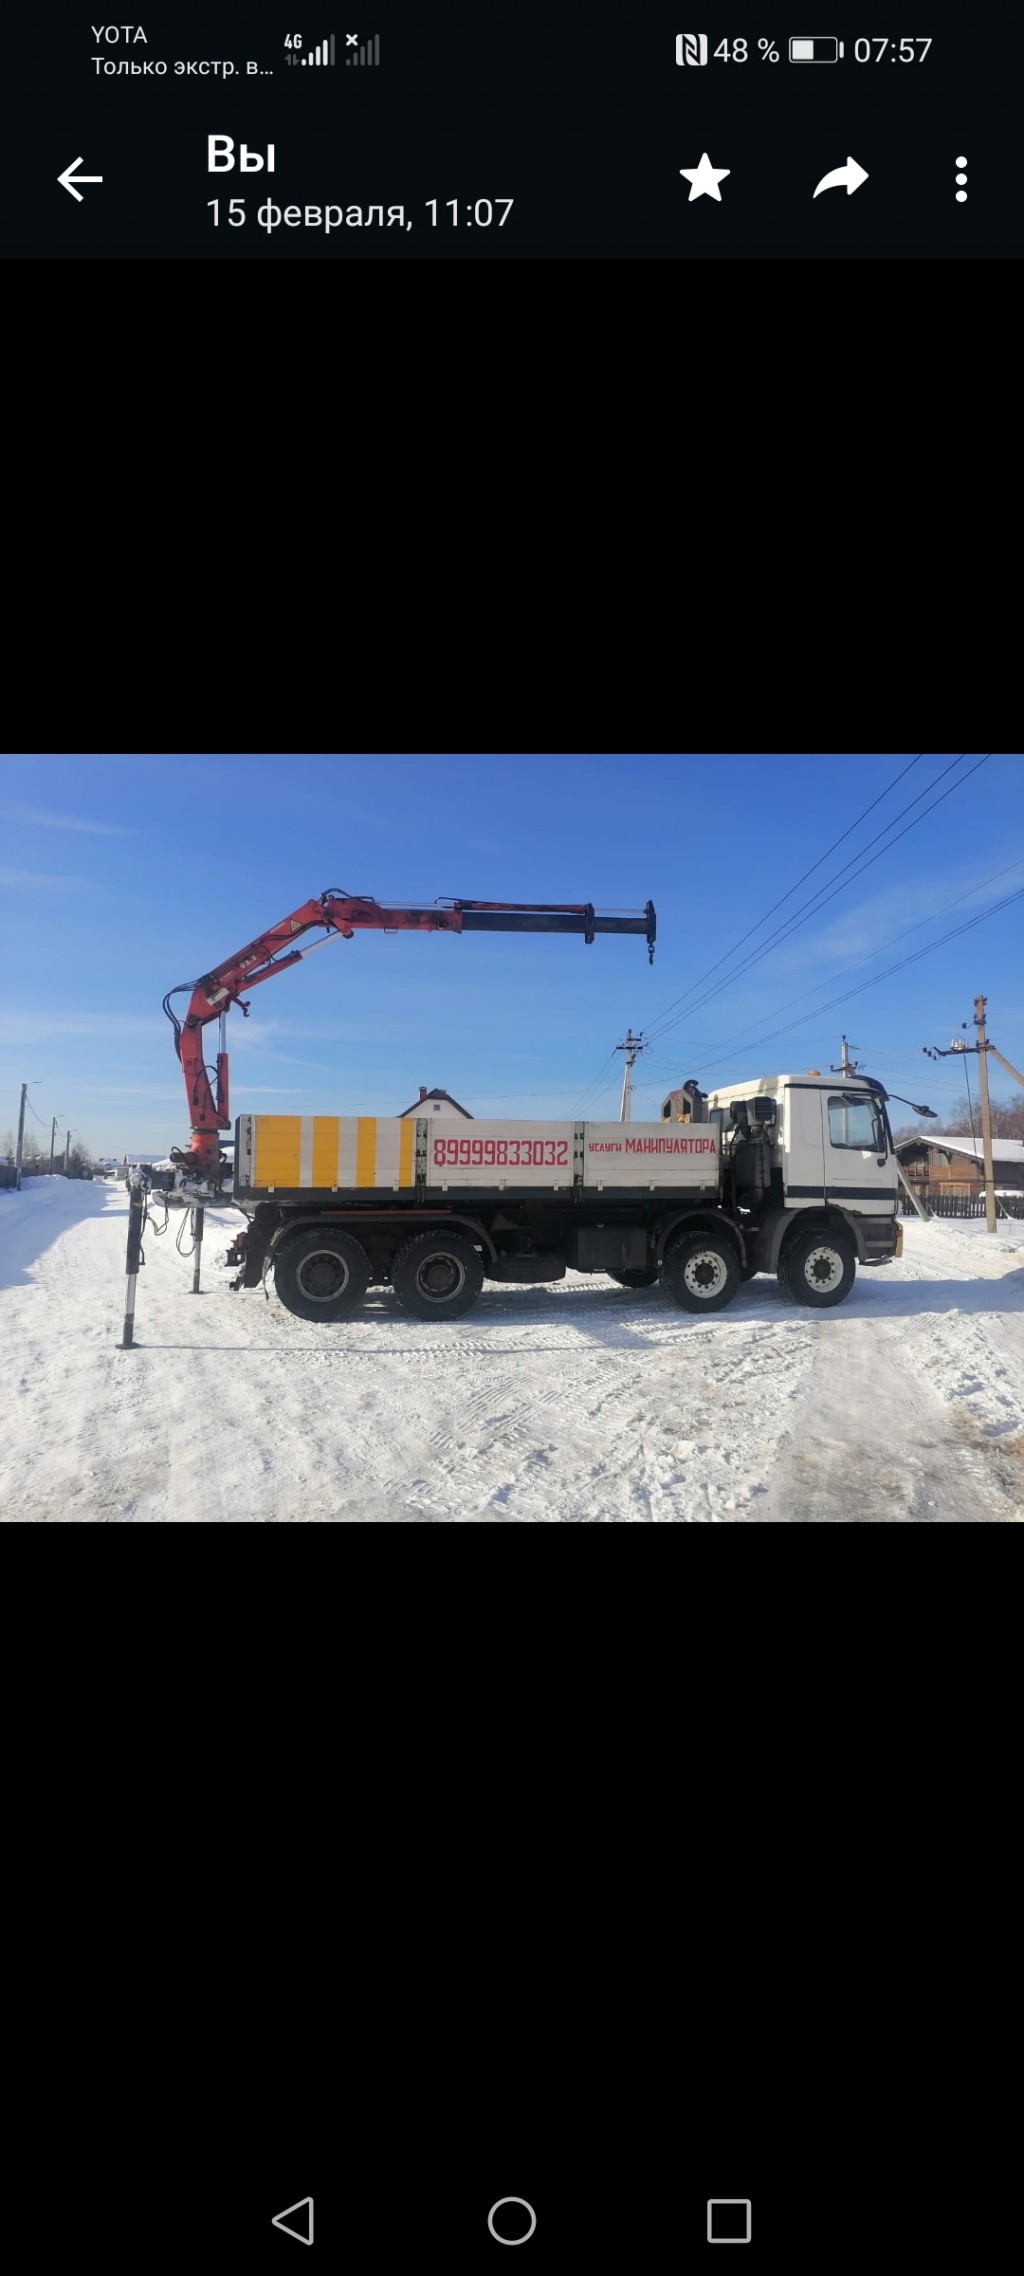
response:
<path fill-rule="evenodd" d="M 835 1311 L 774 1279 L 694 1320 L 569 1272 L 462 1322 L 391 1293 L 309 1327 L 203 1293 L 146 1231 L 121 1350 L 123 1186 L 0 1193 L 0 1507 L 11 1520 L 999 1520 L 1024 1516 L 1024 1222 L 903 1227 Z"/>

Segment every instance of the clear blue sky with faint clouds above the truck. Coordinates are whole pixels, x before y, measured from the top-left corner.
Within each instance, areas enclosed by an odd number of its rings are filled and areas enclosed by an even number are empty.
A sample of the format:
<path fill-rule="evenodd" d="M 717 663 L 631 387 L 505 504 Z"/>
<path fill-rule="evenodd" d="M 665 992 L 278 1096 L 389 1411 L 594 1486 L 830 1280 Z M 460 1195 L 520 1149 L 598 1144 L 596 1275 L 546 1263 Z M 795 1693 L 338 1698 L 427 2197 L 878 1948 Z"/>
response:
<path fill-rule="evenodd" d="M 257 988 L 248 1020 L 232 1011 L 232 1115 L 398 1113 L 426 1083 L 476 1115 L 583 1102 L 612 1118 L 610 1054 L 633 1026 L 655 1031 L 635 1118 L 658 1115 L 687 1074 L 824 1072 L 847 1031 L 867 1072 L 944 1120 L 965 1102 L 963 1072 L 922 1045 L 949 1045 L 978 990 L 994 1042 L 1024 1067 L 1024 899 L 849 1001 L 831 997 L 1024 888 L 1024 762 L 997 756 L 967 781 L 981 753 L 947 774 L 956 753 L 928 753 L 883 797 L 912 756 L 0 756 L 0 1136 L 27 1079 L 36 1136 L 57 1113 L 96 1154 L 184 1145 L 164 992 L 332 885 L 423 904 L 653 899 L 655 963 L 639 938 L 332 940 Z M 951 783 L 963 787 L 730 979 L 847 863 L 878 853 L 878 831 L 906 828 Z M 997 1097 L 1015 1090 L 992 1074 Z"/>

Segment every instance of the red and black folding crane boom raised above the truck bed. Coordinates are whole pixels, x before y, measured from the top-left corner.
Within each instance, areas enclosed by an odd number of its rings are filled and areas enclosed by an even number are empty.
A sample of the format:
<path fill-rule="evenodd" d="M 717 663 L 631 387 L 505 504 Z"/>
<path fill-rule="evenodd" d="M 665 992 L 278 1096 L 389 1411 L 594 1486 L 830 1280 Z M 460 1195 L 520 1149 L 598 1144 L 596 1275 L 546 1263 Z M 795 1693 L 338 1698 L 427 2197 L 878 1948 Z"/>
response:
<path fill-rule="evenodd" d="M 309 949 L 296 942 L 321 931 L 323 940 L 341 933 L 353 940 L 357 931 L 378 933 L 583 933 L 589 945 L 596 933 L 644 933 L 649 960 L 653 963 L 655 908 L 646 901 L 642 910 L 596 910 L 589 901 L 455 901 L 423 908 L 382 908 L 369 894 L 348 894 L 330 888 L 312 901 L 303 901 L 280 924 L 271 924 L 243 949 L 234 949 L 223 963 L 205 972 L 203 979 L 171 988 L 164 1011 L 175 1031 L 175 1052 L 182 1063 L 184 1090 L 189 1099 L 191 1143 L 182 1154 L 171 1149 L 171 1158 L 187 1165 L 205 1188 L 218 1184 L 218 1131 L 230 1129 L 228 1111 L 228 1052 L 216 1054 L 216 1088 L 203 1054 L 203 1029 L 223 1017 L 232 1004 L 248 1017 L 241 990 L 259 988 L 262 981 L 298 965 Z M 323 947 L 314 940 L 309 947 Z M 189 1011 L 180 1020 L 171 1011 L 171 997 L 187 995 Z M 223 1031 L 221 1031 L 223 1038 Z"/>

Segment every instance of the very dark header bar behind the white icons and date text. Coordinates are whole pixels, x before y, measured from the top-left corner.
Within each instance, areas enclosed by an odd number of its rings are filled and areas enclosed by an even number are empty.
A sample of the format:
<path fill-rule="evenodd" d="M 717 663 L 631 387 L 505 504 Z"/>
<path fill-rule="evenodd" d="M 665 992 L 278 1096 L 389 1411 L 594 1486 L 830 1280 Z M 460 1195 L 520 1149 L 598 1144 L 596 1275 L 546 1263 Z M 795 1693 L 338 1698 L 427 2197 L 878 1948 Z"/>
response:
<path fill-rule="evenodd" d="M 667 5 L 637 14 L 603 5 L 394 5 L 357 16 L 380 34 L 378 71 L 344 66 L 348 20 L 323 5 L 248 0 L 246 7 L 168 7 L 148 0 L 146 46 L 96 41 L 105 9 L 20 11 L 5 32 L 5 250 L 32 257 L 963 257 L 1019 250 L 1015 102 L 1022 11 L 981 30 L 942 0 L 915 23 L 933 48 L 924 64 L 856 64 L 853 39 L 899 39 L 899 11 L 835 9 L 837 66 L 787 61 L 790 27 L 721 11 L 712 46 L 749 41 L 746 64 L 678 68 Z M 776 30 L 771 30 L 776 25 Z M 284 68 L 284 32 L 337 36 L 335 71 Z M 771 34 L 778 64 L 758 55 Z M 96 75 L 105 61 L 168 64 L 168 75 Z M 246 77 L 246 59 L 273 66 Z M 175 77 L 177 59 L 232 59 L 237 77 Z M 275 143 L 275 173 L 209 173 L 207 134 Z M 689 203 L 680 166 L 708 150 L 728 166 L 721 205 Z M 967 157 L 967 205 L 956 205 L 956 157 Z M 82 205 L 57 175 L 77 155 L 102 173 Z M 853 155 L 869 180 L 812 198 L 817 180 Z M 207 200 L 221 198 L 214 230 Z M 248 221 L 228 228 L 228 198 Z M 405 205 L 412 230 L 284 228 L 266 234 L 259 205 Z M 460 200 L 430 228 L 426 200 Z M 514 198 L 505 225 L 469 225 L 466 205 Z"/>

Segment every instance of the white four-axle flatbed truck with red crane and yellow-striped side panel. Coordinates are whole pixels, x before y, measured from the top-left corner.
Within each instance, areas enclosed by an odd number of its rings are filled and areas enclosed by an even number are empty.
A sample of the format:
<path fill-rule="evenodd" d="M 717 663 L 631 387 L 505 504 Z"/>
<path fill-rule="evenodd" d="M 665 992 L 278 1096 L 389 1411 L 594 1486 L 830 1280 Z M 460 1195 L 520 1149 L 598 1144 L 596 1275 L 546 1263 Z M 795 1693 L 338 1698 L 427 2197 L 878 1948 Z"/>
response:
<path fill-rule="evenodd" d="M 742 1279 L 774 1272 L 812 1306 L 840 1304 L 856 1265 L 901 1254 L 887 1092 L 869 1077 L 776 1074 L 701 1092 L 671 1090 L 658 1122 L 521 1122 L 407 1115 L 237 1115 L 232 1188 L 223 1017 L 298 963 L 296 938 L 375 931 L 644 933 L 655 910 L 589 904 L 446 901 L 382 908 L 330 890 L 305 901 L 200 981 L 171 990 L 191 1145 L 146 1186 L 177 1204 L 230 1202 L 246 1218 L 225 1263 L 232 1288 L 273 1272 L 303 1320 L 344 1320 L 371 1284 L 410 1313 L 460 1318 L 485 1281 L 603 1272 L 624 1288 L 662 1284 L 687 1311 L 721 1311 Z M 316 942 L 319 945 L 319 942 Z M 171 997 L 187 992 L 184 1020 Z M 216 1072 L 203 1031 L 221 1020 Z M 341 1104 L 341 1102 L 339 1102 Z"/>

